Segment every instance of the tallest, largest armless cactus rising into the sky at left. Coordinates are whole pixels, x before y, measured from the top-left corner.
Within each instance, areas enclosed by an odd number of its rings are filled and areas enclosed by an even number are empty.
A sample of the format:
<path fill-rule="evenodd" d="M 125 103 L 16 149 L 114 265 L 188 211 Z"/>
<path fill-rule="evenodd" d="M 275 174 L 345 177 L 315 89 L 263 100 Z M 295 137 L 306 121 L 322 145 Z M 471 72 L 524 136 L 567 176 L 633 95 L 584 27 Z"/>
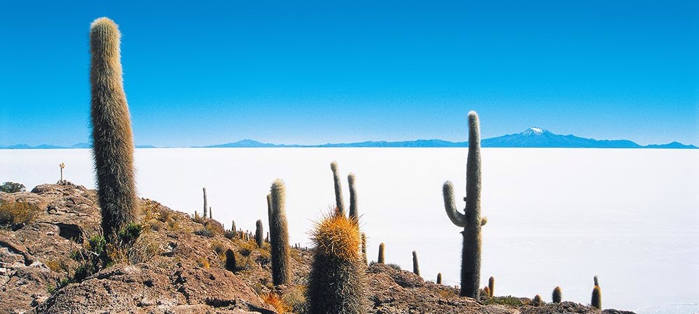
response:
<path fill-rule="evenodd" d="M 110 243 L 136 220 L 134 135 L 122 81 L 121 33 L 106 17 L 90 25 L 90 118 L 92 156 L 97 195 L 102 212 L 102 232 Z"/>

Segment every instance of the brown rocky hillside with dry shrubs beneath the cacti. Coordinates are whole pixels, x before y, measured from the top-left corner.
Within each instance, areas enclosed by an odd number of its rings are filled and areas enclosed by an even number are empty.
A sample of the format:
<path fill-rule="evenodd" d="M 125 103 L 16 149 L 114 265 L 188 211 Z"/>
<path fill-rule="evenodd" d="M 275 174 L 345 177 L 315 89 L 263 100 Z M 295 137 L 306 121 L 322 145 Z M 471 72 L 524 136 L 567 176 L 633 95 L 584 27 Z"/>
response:
<path fill-rule="evenodd" d="M 32 223 L 0 227 L 0 313 L 300 313 L 310 252 L 292 250 L 294 281 L 274 287 L 269 249 L 229 239 L 215 220 L 193 219 L 152 200 L 141 201 L 143 233 L 117 262 L 82 281 L 70 281 L 99 234 L 94 190 L 69 182 L 31 193 L 0 193 L 1 202 L 40 209 Z M 224 268 L 224 251 L 238 269 Z M 71 254 L 73 253 L 73 254 Z M 409 271 L 375 264 L 366 271 L 368 313 L 630 313 L 598 311 L 572 302 L 532 306 L 526 298 L 459 297 L 454 287 Z M 277 297 L 278 296 L 278 297 Z M 276 307 L 275 307 L 276 306 Z"/>

